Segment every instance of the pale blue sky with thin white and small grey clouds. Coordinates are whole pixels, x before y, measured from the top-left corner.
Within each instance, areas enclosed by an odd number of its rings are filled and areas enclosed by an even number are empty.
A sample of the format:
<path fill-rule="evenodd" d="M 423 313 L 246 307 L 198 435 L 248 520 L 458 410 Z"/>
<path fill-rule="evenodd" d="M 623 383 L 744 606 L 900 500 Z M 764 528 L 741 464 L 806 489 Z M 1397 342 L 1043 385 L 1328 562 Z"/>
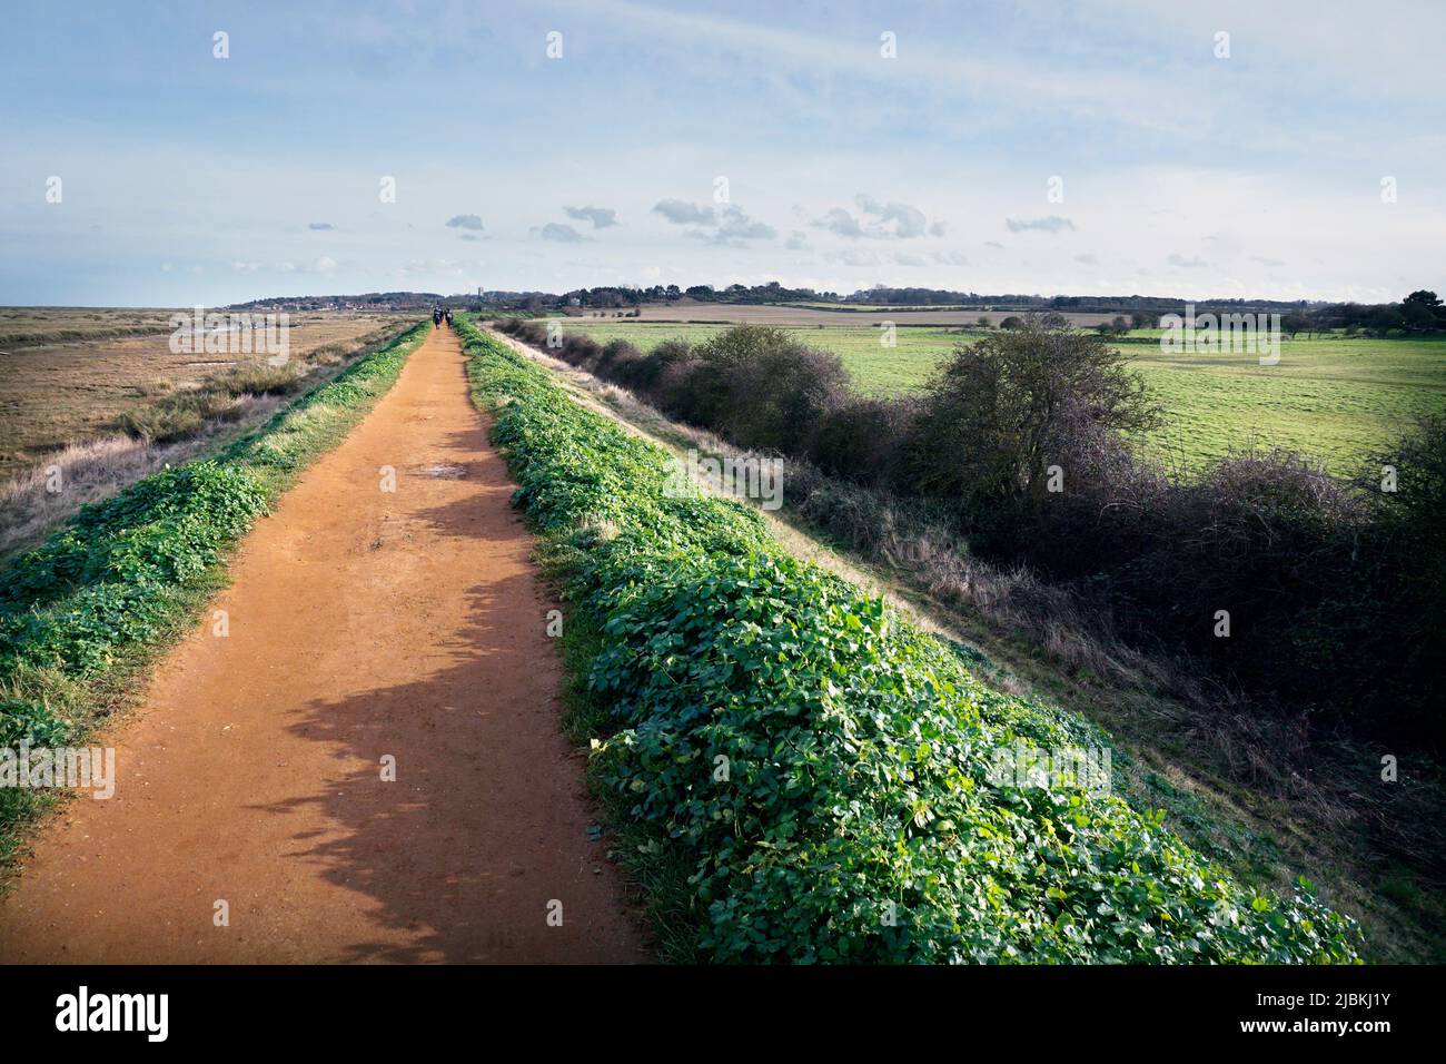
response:
<path fill-rule="evenodd" d="M 1439 0 L 48 0 L 4 28 L 0 304 L 1446 292 Z"/>

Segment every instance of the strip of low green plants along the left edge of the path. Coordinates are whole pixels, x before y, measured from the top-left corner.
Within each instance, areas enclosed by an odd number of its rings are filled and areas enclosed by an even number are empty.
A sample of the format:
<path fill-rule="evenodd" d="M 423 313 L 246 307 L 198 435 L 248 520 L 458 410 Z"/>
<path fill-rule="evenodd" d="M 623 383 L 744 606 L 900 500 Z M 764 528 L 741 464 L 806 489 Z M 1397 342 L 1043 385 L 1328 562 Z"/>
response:
<path fill-rule="evenodd" d="M 13 559 L 0 573 L 0 746 L 62 746 L 123 701 L 220 586 L 227 549 L 392 387 L 429 327 L 359 359 L 217 457 L 85 507 Z M 43 801 L 0 789 L 0 858 Z"/>

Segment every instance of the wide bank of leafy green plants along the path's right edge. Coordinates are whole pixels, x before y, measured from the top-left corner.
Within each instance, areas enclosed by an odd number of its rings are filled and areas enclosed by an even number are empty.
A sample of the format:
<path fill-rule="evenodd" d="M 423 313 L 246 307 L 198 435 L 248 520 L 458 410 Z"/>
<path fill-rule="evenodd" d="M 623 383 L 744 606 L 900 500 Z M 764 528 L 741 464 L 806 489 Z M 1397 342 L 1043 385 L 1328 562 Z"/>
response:
<path fill-rule="evenodd" d="M 1090 741 L 785 553 L 749 508 L 461 324 L 479 405 L 591 631 L 591 773 L 681 873 L 659 938 L 717 961 L 1346 963 L 1353 921 L 1257 895 L 1160 815 L 991 782 L 1002 748 Z M 570 656 L 574 662 L 577 654 Z M 993 776 L 996 780 L 998 777 Z M 636 866 L 638 858 L 628 857 Z"/>

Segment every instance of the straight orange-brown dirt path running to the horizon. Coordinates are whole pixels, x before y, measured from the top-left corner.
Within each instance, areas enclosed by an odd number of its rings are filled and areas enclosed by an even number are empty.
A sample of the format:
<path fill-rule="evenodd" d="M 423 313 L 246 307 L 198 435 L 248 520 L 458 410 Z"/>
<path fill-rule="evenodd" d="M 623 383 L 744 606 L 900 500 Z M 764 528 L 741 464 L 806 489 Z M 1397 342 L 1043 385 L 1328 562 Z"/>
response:
<path fill-rule="evenodd" d="M 246 539 L 230 634 L 207 620 L 106 738 L 116 796 L 40 832 L 0 961 L 648 960 L 463 366 L 434 333 Z"/>

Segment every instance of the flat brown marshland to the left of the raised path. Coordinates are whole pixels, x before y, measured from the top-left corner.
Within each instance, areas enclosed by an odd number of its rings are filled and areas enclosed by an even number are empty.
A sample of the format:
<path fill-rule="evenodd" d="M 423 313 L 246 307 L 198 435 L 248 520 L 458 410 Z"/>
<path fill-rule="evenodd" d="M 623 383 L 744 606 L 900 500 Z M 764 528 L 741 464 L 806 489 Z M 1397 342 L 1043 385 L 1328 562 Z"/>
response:
<path fill-rule="evenodd" d="M 48 452 L 107 431 L 123 413 L 257 358 L 172 353 L 168 320 L 174 313 L 0 310 L 0 481 L 30 469 Z M 307 363 L 318 353 L 350 353 L 369 337 L 409 320 L 392 314 L 292 314 L 291 355 Z M 22 336 L 33 339 L 22 345 Z"/>

